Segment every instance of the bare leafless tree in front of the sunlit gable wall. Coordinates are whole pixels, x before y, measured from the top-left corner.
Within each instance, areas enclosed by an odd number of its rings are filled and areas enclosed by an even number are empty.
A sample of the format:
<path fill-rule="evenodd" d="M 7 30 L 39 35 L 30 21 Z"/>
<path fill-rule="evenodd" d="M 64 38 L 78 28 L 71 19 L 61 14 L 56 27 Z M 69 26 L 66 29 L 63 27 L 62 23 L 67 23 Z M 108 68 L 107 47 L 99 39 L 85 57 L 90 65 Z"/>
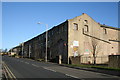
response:
<path fill-rule="evenodd" d="M 93 64 L 95 65 L 96 64 L 96 57 L 97 57 L 97 54 L 100 50 L 100 46 L 98 45 L 98 40 L 95 39 L 95 38 L 92 38 L 91 39 L 91 52 L 92 52 L 92 55 L 93 55 Z"/>

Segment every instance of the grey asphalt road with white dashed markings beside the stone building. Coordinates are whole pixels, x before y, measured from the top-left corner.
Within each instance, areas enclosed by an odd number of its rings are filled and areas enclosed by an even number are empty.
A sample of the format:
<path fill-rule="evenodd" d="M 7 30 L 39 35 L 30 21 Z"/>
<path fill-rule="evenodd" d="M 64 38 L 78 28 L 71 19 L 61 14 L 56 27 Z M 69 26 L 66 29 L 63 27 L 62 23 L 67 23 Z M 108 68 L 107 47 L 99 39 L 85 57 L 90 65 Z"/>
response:
<path fill-rule="evenodd" d="M 117 76 L 78 70 L 53 63 L 3 56 L 3 62 L 16 78 L 54 78 L 65 80 L 120 80 Z"/>

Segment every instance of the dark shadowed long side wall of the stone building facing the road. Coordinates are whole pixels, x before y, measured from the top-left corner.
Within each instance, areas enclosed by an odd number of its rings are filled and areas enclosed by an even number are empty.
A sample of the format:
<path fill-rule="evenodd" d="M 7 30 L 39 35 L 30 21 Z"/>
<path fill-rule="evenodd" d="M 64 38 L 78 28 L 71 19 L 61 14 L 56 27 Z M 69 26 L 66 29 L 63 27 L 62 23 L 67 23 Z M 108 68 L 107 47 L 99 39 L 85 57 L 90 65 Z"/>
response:
<path fill-rule="evenodd" d="M 68 57 L 68 21 L 54 26 L 48 30 L 48 45 L 47 45 L 47 58 L 48 60 L 56 60 L 59 55 L 62 55 L 62 62 L 67 63 Z M 24 42 L 24 57 L 33 59 L 44 59 L 46 53 L 46 32 L 40 34 L 29 41 Z"/>

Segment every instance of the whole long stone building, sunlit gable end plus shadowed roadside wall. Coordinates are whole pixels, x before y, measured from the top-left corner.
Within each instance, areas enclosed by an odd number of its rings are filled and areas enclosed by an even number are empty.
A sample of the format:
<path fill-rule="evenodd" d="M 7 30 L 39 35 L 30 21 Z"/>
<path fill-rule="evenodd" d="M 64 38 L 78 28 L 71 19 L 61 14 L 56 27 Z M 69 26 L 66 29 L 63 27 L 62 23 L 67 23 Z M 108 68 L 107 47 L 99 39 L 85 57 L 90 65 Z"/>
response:
<path fill-rule="evenodd" d="M 48 30 L 48 60 L 62 56 L 62 63 L 108 62 L 108 55 L 120 55 L 120 28 L 102 25 L 83 13 Z M 46 33 L 21 45 L 21 54 L 45 59 Z"/>

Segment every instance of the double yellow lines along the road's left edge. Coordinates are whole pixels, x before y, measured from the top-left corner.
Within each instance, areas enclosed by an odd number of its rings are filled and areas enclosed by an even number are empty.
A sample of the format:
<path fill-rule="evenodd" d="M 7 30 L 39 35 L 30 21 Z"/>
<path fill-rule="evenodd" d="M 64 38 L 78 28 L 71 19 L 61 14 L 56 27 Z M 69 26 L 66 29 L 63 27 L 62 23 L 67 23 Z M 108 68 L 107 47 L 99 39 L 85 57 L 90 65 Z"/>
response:
<path fill-rule="evenodd" d="M 11 70 L 8 68 L 8 66 L 5 64 L 5 62 L 2 62 L 3 66 L 3 73 L 5 75 L 5 78 L 7 80 L 17 80 L 17 78 L 14 76 L 14 74 L 11 72 Z"/>

